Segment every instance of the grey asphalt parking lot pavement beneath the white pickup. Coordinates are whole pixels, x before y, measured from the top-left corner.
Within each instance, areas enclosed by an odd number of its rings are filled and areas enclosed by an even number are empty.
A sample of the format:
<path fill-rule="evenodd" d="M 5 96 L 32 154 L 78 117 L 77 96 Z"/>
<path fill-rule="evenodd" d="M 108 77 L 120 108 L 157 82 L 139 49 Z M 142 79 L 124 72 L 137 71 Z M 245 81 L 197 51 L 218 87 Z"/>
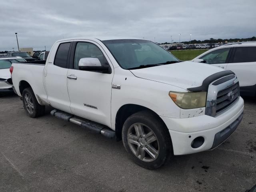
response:
<path fill-rule="evenodd" d="M 256 184 L 256 99 L 212 151 L 175 156 L 158 170 L 136 165 L 122 142 L 50 115 L 30 118 L 14 94 L 0 97 L 0 191 L 244 192 Z"/>

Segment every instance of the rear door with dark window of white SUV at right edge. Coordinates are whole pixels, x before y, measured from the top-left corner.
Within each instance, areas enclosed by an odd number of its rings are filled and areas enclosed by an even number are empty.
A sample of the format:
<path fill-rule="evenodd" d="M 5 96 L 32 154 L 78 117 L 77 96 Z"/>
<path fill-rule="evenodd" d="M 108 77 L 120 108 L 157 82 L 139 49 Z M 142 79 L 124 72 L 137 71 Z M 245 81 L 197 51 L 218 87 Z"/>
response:
<path fill-rule="evenodd" d="M 238 77 L 240 86 L 256 84 L 256 46 L 234 47 L 227 70 Z"/>

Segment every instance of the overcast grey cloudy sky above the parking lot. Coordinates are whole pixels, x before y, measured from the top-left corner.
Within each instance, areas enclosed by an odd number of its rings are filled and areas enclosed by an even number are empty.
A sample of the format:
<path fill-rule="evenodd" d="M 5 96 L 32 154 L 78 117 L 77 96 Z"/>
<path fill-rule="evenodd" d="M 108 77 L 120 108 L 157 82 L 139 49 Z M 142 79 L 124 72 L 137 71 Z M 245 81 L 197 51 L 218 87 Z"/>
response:
<path fill-rule="evenodd" d="M 256 0 L 5 0 L 0 51 L 50 50 L 62 38 L 129 36 L 156 42 L 256 36 Z"/>

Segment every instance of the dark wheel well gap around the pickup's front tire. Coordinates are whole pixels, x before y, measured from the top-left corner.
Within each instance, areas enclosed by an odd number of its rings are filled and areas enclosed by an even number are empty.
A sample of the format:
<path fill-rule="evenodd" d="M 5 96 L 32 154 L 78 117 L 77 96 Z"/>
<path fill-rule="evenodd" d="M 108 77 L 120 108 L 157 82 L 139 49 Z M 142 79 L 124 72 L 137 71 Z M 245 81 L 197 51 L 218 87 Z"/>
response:
<path fill-rule="evenodd" d="M 131 116 L 132 114 L 139 112 L 139 111 L 150 111 L 152 114 L 154 114 L 154 116 L 159 118 L 159 120 L 165 125 L 165 128 L 168 130 L 168 128 L 167 128 L 166 124 L 164 123 L 164 121 L 162 120 L 162 118 L 160 118 L 160 116 L 156 112 L 151 110 L 150 108 L 147 108 L 147 107 L 144 107 L 141 105 L 137 105 L 137 104 L 125 104 L 125 105 L 121 106 L 116 113 L 115 132 L 116 132 L 116 140 L 117 141 L 122 140 L 122 128 L 123 128 L 123 125 L 124 125 L 124 122 L 126 121 L 126 119 L 129 116 Z M 168 133 L 169 133 L 169 131 L 168 131 Z"/>

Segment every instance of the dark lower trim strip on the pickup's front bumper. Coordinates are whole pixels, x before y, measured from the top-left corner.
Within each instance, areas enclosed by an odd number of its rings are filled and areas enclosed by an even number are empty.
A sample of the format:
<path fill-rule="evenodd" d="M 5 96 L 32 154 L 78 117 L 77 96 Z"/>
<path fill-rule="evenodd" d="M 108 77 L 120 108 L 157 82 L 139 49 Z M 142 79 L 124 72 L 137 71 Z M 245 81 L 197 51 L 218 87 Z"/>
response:
<path fill-rule="evenodd" d="M 242 121 L 243 116 L 244 113 L 242 112 L 242 114 L 240 114 L 240 116 L 234 122 L 232 122 L 232 124 L 215 134 L 211 149 L 214 149 L 222 144 L 236 130 L 236 128 Z"/>

